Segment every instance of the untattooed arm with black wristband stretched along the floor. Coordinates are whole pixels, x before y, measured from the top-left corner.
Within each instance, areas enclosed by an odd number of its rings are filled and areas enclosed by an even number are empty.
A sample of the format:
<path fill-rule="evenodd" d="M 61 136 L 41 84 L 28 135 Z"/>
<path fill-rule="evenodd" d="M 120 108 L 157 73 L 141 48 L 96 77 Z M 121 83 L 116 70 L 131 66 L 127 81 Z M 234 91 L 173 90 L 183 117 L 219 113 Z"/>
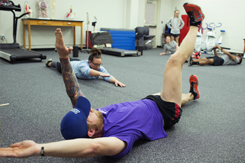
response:
<path fill-rule="evenodd" d="M 47 144 L 37 144 L 26 140 L 12 144 L 9 148 L 0 148 L 0 157 L 26 158 L 41 156 L 87 158 L 97 155 L 114 156 L 123 151 L 126 144 L 116 137 L 96 139 L 73 139 Z"/>

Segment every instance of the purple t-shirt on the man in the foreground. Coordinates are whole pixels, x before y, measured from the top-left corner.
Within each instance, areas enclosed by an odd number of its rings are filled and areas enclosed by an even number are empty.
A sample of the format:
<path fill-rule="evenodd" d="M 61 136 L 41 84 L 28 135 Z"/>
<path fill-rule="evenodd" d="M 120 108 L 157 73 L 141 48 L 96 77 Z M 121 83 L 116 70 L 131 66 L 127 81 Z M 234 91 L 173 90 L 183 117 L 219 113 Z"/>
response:
<path fill-rule="evenodd" d="M 112 104 L 97 109 L 103 114 L 103 137 L 117 137 L 126 142 L 118 155 L 126 155 L 138 139 L 155 140 L 167 136 L 163 117 L 155 102 L 149 99 Z"/>

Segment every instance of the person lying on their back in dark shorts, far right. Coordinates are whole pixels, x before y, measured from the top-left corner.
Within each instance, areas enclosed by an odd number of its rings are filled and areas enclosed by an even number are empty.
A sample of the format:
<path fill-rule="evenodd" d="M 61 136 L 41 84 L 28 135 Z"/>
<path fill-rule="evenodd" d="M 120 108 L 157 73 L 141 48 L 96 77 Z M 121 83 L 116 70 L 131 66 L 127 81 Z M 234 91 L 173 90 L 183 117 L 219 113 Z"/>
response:
<path fill-rule="evenodd" d="M 223 56 L 219 56 L 216 52 L 216 49 L 220 49 L 221 52 L 225 53 Z M 221 65 L 237 65 L 242 63 L 242 56 L 241 55 L 232 55 L 231 53 L 227 52 L 226 50 L 222 49 L 219 45 L 215 45 L 213 47 L 214 50 L 214 57 L 205 57 L 199 59 L 193 59 L 190 57 L 188 59 L 188 65 L 214 65 L 214 66 L 221 66 Z"/>

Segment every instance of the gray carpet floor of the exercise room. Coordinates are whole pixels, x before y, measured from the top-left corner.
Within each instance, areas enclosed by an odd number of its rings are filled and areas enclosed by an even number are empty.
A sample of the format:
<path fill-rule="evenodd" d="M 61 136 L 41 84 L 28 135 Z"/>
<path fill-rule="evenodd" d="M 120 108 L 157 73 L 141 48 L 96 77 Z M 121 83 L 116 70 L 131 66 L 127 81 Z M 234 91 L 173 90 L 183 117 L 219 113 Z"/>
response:
<path fill-rule="evenodd" d="M 115 87 L 101 79 L 79 80 L 80 88 L 93 108 L 160 92 L 169 58 L 159 56 L 161 51 L 145 50 L 140 57 L 103 55 L 104 67 L 126 87 Z M 41 53 L 58 61 L 54 51 Z M 79 58 L 87 59 L 88 54 L 80 52 Z M 182 107 L 180 122 L 166 130 L 166 138 L 139 140 L 121 159 L 33 157 L 0 158 L 0 162 L 245 162 L 245 63 L 219 67 L 189 67 L 186 63 L 182 72 L 183 93 L 188 93 L 189 76 L 195 74 L 201 97 Z M 22 140 L 63 140 L 60 122 L 72 105 L 61 74 L 47 68 L 45 60 L 11 64 L 0 59 L 0 83 L 0 104 L 10 103 L 0 107 L 1 147 Z"/>

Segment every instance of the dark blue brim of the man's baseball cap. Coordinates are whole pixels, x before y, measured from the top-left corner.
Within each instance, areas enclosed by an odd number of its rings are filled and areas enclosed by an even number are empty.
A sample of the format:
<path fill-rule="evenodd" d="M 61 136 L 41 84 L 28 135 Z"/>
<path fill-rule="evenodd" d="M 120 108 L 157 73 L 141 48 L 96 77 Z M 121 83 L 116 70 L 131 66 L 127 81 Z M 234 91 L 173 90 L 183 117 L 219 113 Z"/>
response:
<path fill-rule="evenodd" d="M 79 96 L 77 98 L 77 103 L 76 103 L 75 108 L 77 108 L 80 111 L 82 111 L 83 114 L 85 115 L 85 117 L 88 117 L 89 112 L 90 112 L 91 105 L 90 105 L 90 102 L 89 102 L 88 99 L 86 99 L 83 96 Z"/>

